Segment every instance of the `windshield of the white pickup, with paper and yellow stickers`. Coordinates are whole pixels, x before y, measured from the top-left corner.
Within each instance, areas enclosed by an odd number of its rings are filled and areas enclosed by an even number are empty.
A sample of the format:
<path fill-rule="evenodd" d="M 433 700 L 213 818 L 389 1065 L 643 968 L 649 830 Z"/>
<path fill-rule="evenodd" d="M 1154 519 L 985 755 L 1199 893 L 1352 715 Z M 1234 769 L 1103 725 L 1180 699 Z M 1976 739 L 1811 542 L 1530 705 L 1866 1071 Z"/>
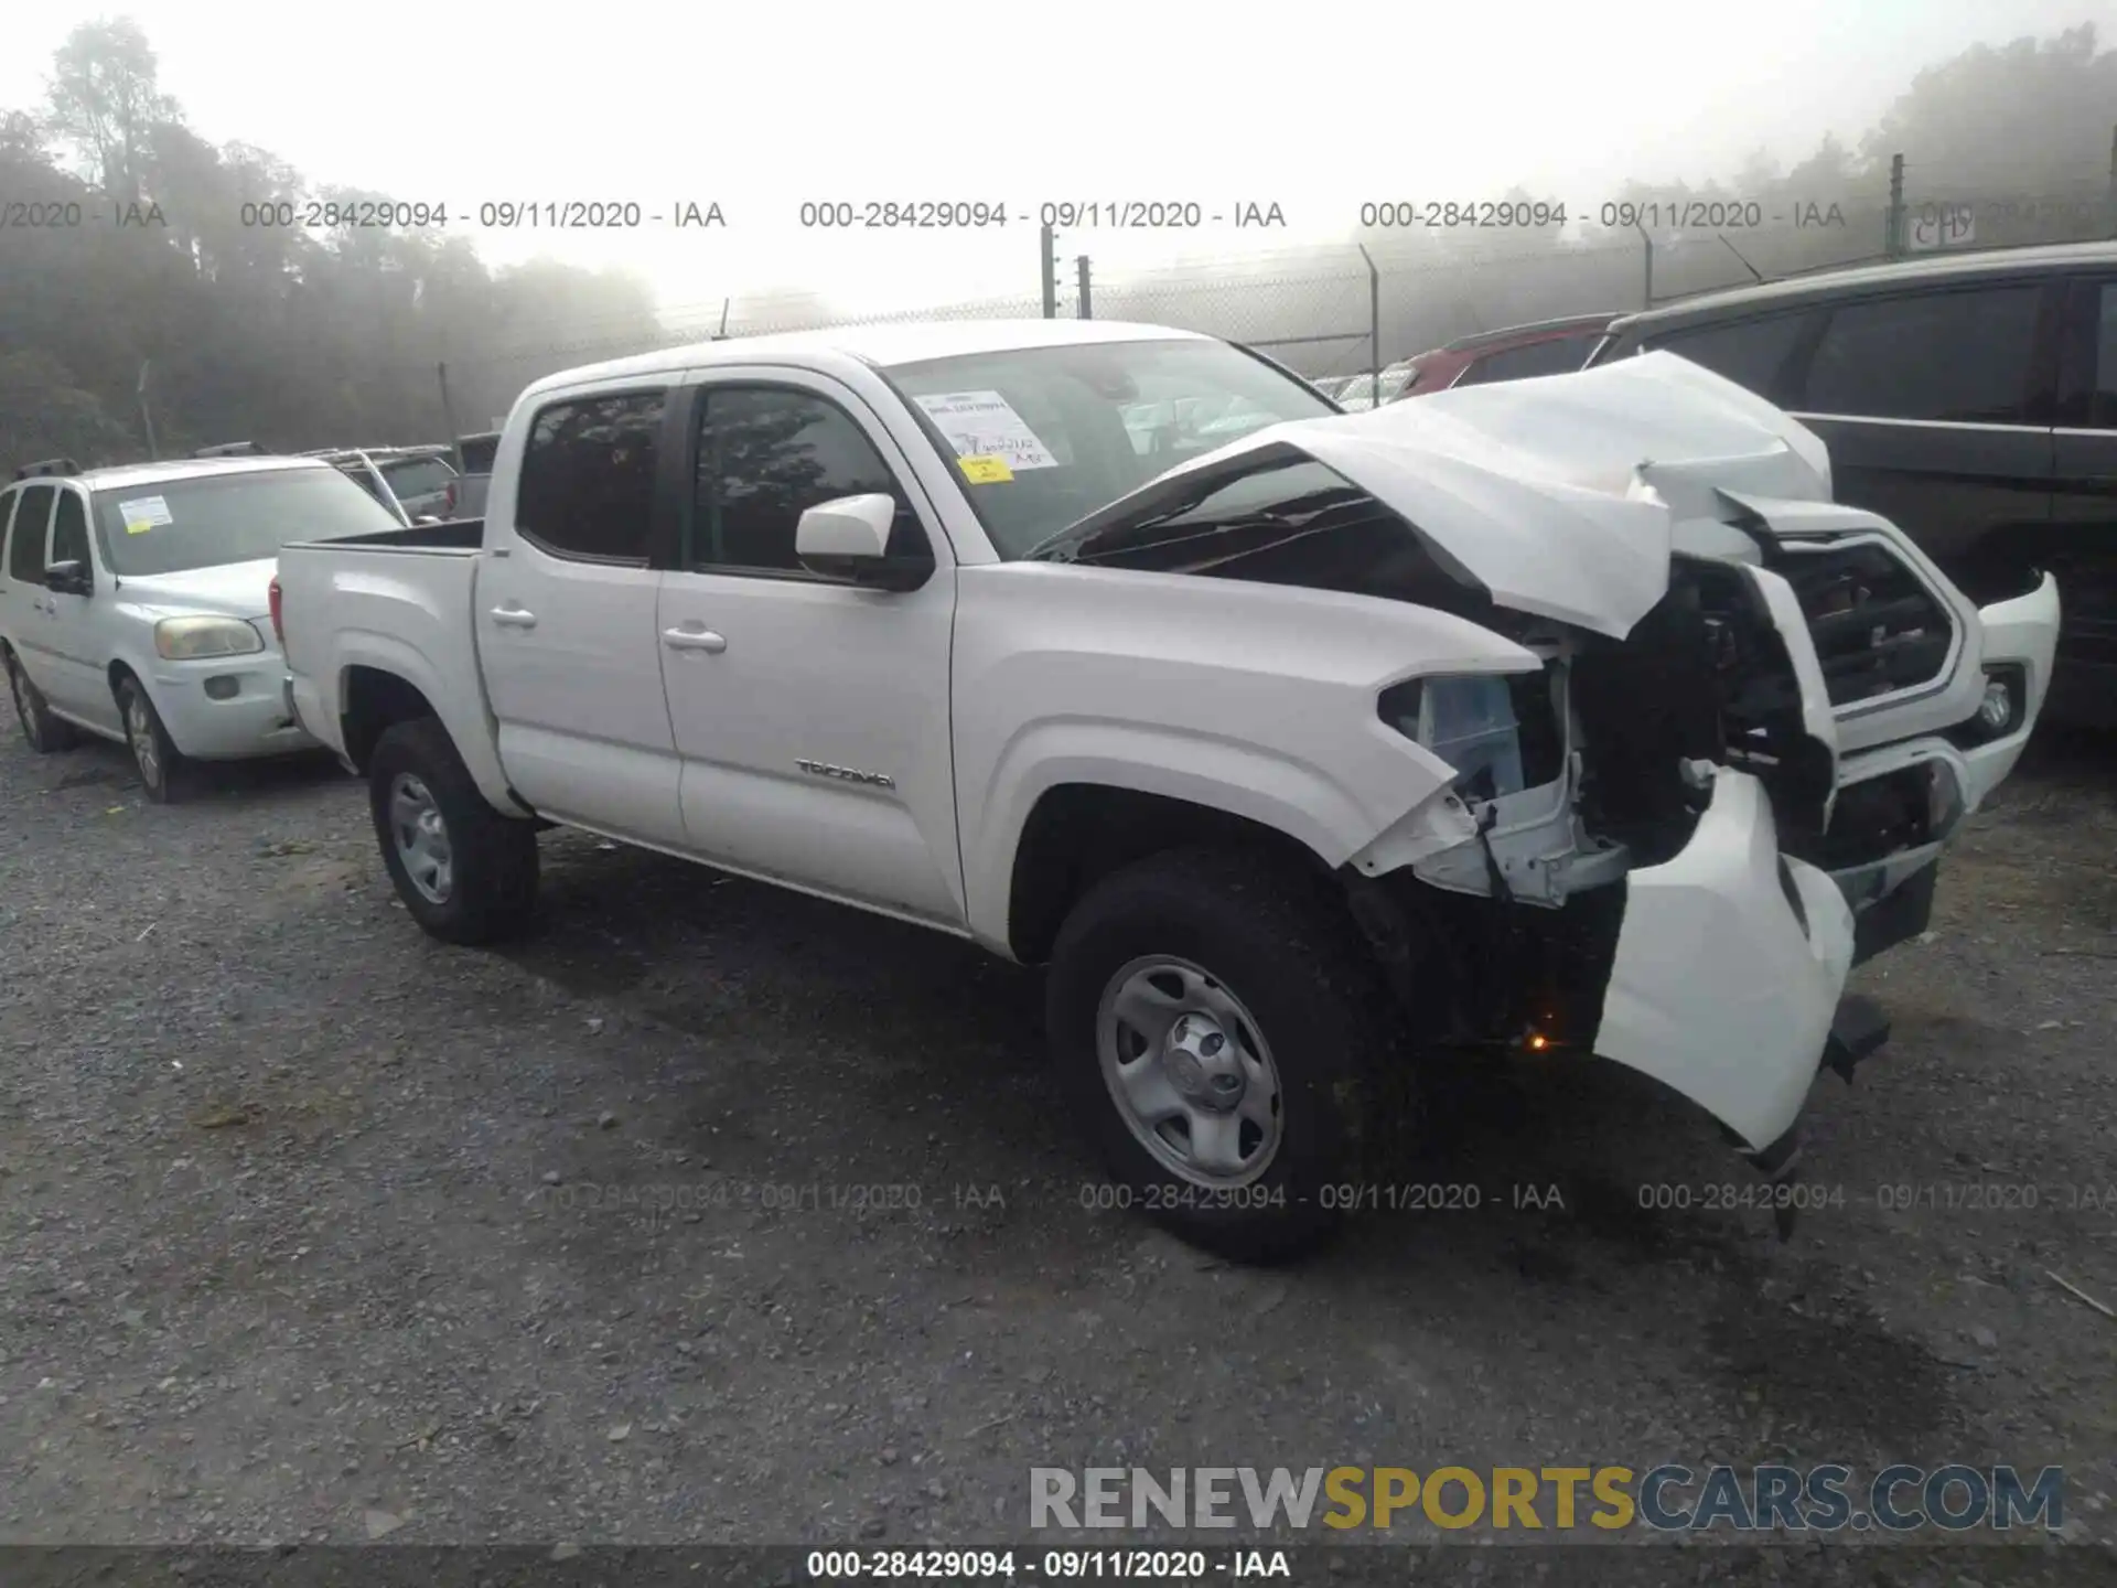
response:
<path fill-rule="evenodd" d="M 1105 341 L 936 358 L 889 371 L 963 459 L 993 546 L 1039 540 L 1177 464 L 1334 409 L 1219 341 Z"/>

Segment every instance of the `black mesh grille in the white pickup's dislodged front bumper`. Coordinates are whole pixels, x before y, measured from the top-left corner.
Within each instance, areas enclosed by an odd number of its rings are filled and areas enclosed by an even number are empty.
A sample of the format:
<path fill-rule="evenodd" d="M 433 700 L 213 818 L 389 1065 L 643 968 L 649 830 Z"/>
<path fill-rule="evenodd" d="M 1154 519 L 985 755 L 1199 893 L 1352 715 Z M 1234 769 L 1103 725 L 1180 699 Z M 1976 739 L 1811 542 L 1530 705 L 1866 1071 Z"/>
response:
<path fill-rule="evenodd" d="M 1941 675 L 1954 620 L 1886 546 L 1797 551 L 1780 572 L 1808 618 L 1831 705 L 1897 694 Z"/>

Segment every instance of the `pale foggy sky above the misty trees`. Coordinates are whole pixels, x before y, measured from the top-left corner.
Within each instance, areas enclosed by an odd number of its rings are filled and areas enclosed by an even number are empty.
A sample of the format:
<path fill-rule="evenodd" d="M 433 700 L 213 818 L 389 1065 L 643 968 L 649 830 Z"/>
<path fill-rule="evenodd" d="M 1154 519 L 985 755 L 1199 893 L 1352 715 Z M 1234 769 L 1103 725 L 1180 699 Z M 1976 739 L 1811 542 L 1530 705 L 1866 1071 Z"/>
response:
<path fill-rule="evenodd" d="M 1732 176 L 1759 146 L 1793 165 L 1823 131 L 1857 140 L 1918 68 L 1969 44 L 2081 21 L 2117 40 L 2117 0 L 1253 0 L 1211 13 L 1139 0 L 381 0 L 337 13 L 61 0 L 11 17 L 0 108 L 38 104 L 53 49 L 97 15 L 142 23 L 163 89 L 207 140 L 269 148 L 315 184 L 447 201 L 462 218 L 451 231 L 487 199 L 720 201 L 726 231 L 472 227 L 495 263 L 627 265 L 671 311 L 756 290 L 862 307 L 1035 290 L 1033 224 L 819 235 L 796 224 L 809 197 L 1249 199 L 1277 201 L 1291 224 L 1061 239 L 1107 275 L 1179 248 L 1234 256 L 1344 237 L 1363 199 L 1486 199 L 1520 182 L 1584 210 L 1626 178 Z"/>

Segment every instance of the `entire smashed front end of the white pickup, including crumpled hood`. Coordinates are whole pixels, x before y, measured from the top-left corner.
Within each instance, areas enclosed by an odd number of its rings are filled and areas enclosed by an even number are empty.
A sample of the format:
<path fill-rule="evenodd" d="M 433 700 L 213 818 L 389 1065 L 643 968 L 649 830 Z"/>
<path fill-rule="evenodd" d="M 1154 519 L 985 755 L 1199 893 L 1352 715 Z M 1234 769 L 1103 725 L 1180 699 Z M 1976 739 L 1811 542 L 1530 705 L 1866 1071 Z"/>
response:
<path fill-rule="evenodd" d="M 1886 1040 L 1846 976 L 1924 930 L 2058 629 L 2049 580 L 1979 612 L 1831 502 L 1812 432 L 1668 354 L 1274 426 L 1037 555 L 1509 642 L 1378 692 L 1452 775 L 1344 860 L 1353 910 L 1427 1042 L 1615 1061 L 1772 1175 L 1819 1067 Z"/>

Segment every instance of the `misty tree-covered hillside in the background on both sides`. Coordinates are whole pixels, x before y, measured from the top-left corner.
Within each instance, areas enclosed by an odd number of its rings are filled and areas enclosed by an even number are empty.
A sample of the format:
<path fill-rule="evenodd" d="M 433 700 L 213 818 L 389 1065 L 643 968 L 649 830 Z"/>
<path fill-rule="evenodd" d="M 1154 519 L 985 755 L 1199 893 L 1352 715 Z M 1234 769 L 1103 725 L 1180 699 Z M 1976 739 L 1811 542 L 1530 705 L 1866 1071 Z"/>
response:
<path fill-rule="evenodd" d="M 1852 142 L 1821 138 L 1780 169 L 1757 155 L 1721 182 L 1632 184 L 1622 201 L 1755 201 L 1763 227 L 1664 231 L 1603 216 L 1564 231 L 1368 233 L 1382 271 L 1382 358 L 1467 330 L 1655 299 L 1884 250 L 1893 157 L 1905 201 L 1977 207 L 1984 243 L 2117 235 L 2117 51 L 2094 28 L 1979 47 L 1916 72 Z M 550 260 L 491 269 L 438 229 L 243 224 L 243 205 L 387 195 L 320 188 L 269 150 L 214 146 L 163 91 L 131 21 L 76 28 L 44 104 L 0 112 L 0 197 L 80 205 L 78 227 L 0 229 L 0 459 L 83 462 L 250 438 L 303 449 L 476 430 L 523 383 L 667 341 L 650 288 Z M 1518 193 L 1520 199 L 1535 195 Z M 1787 216 L 1808 216 L 1795 224 Z M 790 282 L 790 290 L 802 284 Z M 1008 305 L 1035 311 L 1035 284 Z M 1194 260 L 1097 282 L 1097 313 L 1238 339 L 1334 332 L 1296 366 L 1365 368 L 1365 267 L 1351 248 Z M 1071 313 L 1071 290 L 1061 313 Z M 743 305 L 732 328 L 830 320 L 821 299 Z M 694 337 L 699 332 L 684 332 Z M 438 366 L 449 371 L 449 413 Z"/>

